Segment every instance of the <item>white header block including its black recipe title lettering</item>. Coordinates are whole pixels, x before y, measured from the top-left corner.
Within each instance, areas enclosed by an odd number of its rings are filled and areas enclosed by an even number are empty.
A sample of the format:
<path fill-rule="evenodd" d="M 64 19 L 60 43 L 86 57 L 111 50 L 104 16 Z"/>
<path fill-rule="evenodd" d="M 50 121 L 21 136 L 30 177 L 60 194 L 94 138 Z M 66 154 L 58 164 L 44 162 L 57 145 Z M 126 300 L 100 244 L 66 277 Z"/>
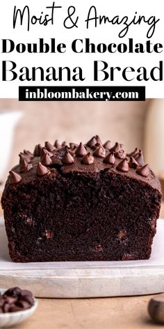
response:
<path fill-rule="evenodd" d="M 164 98 L 162 0 L 6 0 L 0 31 L 0 98 L 18 86 L 145 86 Z"/>

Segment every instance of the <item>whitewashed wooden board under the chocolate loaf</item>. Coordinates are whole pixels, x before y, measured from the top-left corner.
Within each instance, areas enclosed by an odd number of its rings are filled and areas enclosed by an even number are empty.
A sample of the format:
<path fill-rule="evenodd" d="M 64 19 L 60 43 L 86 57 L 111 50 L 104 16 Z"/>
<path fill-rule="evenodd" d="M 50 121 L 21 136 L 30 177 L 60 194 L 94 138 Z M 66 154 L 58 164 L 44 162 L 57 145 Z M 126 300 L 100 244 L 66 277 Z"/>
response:
<path fill-rule="evenodd" d="M 1 222 L 1 221 L 0 221 Z M 164 291 L 164 220 L 158 220 L 151 258 L 145 261 L 13 263 L 0 225 L 0 288 L 20 286 L 34 296 L 85 298 Z"/>

